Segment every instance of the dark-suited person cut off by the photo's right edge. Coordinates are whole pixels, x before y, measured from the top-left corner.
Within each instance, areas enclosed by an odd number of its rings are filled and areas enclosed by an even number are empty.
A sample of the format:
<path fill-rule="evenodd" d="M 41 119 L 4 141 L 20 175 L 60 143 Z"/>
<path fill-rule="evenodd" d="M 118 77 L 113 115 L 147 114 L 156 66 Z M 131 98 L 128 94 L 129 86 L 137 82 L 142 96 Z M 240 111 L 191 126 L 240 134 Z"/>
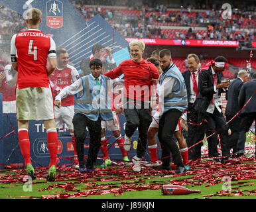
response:
<path fill-rule="evenodd" d="M 247 103 L 247 101 L 249 102 Z M 241 91 L 238 96 L 239 109 L 242 109 L 245 103 L 247 103 L 247 105 L 240 113 L 241 127 L 244 132 L 248 132 L 253 121 L 256 121 L 256 73 L 253 74 L 252 81 L 243 83 L 241 87 Z M 246 136 L 244 133 L 243 139 L 240 140 L 240 142 L 237 142 L 237 152 L 235 152 L 237 156 L 244 153 L 245 140 Z"/>

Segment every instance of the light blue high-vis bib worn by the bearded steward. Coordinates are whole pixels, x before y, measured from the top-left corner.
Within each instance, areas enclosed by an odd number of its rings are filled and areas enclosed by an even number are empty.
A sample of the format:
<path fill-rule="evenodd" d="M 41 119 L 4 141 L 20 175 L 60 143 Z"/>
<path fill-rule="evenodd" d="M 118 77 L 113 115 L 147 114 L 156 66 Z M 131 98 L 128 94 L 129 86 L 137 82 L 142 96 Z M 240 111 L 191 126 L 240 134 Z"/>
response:
<path fill-rule="evenodd" d="M 177 109 L 178 111 L 183 112 L 188 107 L 186 84 L 180 70 L 178 70 L 175 64 L 172 64 L 166 72 L 162 72 L 159 84 L 162 85 L 162 81 L 168 77 L 176 78 L 178 85 L 176 85 L 175 90 L 172 89 L 172 93 L 164 95 L 163 113 L 170 109 Z"/>

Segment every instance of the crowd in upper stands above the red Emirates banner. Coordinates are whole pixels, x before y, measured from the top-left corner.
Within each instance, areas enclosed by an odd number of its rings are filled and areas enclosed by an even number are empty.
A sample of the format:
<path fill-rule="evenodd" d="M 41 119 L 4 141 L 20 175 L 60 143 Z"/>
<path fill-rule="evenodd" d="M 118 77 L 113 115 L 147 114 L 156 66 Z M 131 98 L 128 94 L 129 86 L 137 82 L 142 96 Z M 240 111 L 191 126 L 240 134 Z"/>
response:
<path fill-rule="evenodd" d="M 217 9 L 215 6 L 202 11 L 192 9 L 190 5 L 180 9 L 171 9 L 165 5 L 155 5 L 155 7 L 143 5 L 139 8 L 133 5 L 123 9 L 123 7 L 101 5 L 88 7 L 87 3 L 74 1 L 75 7 L 86 20 L 99 14 L 124 37 L 255 40 L 256 19 L 255 11 L 250 11 L 251 8 L 247 8 L 248 11 L 233 8 L 231 19 L 224 20 L 222 9 Z M 107 4 L 108 1 L 105 3 Z M 172 26 L 183 26 L 186 29 L 172 28 Z M 200 27 L 200 30 L 196 29 L 197 27 Z M 202 27 L 205 30 L 202 30 Z"/>

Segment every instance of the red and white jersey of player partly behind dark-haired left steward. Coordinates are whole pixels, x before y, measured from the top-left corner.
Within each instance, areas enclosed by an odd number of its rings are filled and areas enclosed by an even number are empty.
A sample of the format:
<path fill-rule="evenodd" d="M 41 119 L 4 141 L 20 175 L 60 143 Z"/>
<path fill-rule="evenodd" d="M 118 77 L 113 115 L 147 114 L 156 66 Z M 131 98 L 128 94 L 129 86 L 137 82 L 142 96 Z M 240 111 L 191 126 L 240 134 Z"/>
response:
<path fill-rule="evenodd" d="M 55 99 L 56 95 L 64 89 L 64 87 L 67 87 L 68 85 L 71 85 L 74 81 L 78 80 L 79 73 L 74 66 L 68 65 L 66 68 L 63 68 L 62 70 L 58 69 L 58 67 L 52 72 L 52 74 L 49 76 L 53 91 L 53 99 Z M 62 99 L 61 101 L 62 106 L 70 106 L 74 105 L 74 96 L 68 95 L 68 97 Z"/>

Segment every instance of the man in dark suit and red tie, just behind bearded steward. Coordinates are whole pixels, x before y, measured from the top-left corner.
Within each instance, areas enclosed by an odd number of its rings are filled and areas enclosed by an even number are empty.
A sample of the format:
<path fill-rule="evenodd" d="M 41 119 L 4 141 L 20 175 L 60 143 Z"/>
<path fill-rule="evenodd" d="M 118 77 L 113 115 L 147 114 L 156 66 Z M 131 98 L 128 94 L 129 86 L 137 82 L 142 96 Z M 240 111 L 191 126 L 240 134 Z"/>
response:
<path fill-rule="evenodd" d="M 192 146 L 190 150 L 188 151 L 188 158 L 189 160 L 198 160 L 198 158 L 201 157 L 201 146 L 202 142 L 199 144 L 196 144 L 200 140 L 204 139 L 204 134 L 202 134 L 201 137 L 198 137 L 198 140 L 194 140 L 194 137 L 196 136 L 196 133 L 198 131 L 202 131 L 201 126 L 194 125 L 194 123 L 197 123 L 198 115 L 196 111 L 193 109 L 193 103 L 196 100 L 196 97 L 198 96 L 198 74 L 200 72 L 198 68 L 198 64 L 200 62 L 198 56 L 196 54 L 188 54 L 187 56 L 188 61 L 188 70 L 182 72 L 182 76 L 186 83 L 186 89 L 188 93 L 188 109 L 187 109 L 187 120 L 188 120 L 188 137 L 186 139 L 186 142 L 188 144 L 188 147 Z M 210 129 L 214 130 L 214 129 Z M 206 131 L 206 136 L 210 136 L 212 132 Z M 210 136 L 208 139 L 208 155 L 210 157 L 217 157 L 218 149 L 217 149 L 217 143 L 218 143 L 218 136 L 217 134 L 214 134 L 213 136 Z M 196 144 L 195 146 L 193 146 Z"/>

